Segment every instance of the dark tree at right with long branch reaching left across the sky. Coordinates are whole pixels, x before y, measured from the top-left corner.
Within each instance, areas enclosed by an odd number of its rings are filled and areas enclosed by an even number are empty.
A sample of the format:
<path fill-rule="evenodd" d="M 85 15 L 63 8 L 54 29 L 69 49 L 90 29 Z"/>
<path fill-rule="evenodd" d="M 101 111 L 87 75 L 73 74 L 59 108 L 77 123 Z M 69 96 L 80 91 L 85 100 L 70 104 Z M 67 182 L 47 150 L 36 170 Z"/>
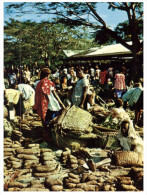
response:
<path fill-rule="evenodd" d="M 21 4 L 21 12 L 23 13 L 23 7 L 30 4 Z M 142 51 L 143 44 L 140 43 L 138 36 L 138 25 L 143 17 L 143 3 L 134 2 L 114 2 L 108 3 L 109 9 L 125 11 L 128 15 L 128 26 L 131 29 L 131 41 L 132 45 L 126 43 L 126 41 L 117 34 L 116 31 L 108 27 L 105 21 L 102 19 L 99 13 L 96 11 L 97 3 L 89 2 L 57 2 L 57 3 L 34 3 L 33 6 L 38 11 L 44 14 L 52 14 L 55 16 L 57 22 L 64 23 L 66 25 L 75 27 L 79 25 L 89 26 L 95 31 L 101 29 L 105 34 L 109 34 L 116 42 L 121 43 L 123 46 L 132 51 L 134 66 L 132 66 L 132 77 L 134 78 L 139 70 L 139 54 Z M 20 5 L 12 4 L 8 8 L 20 9 Z M 31 12 L 31 10 L 30 10 Z"/>

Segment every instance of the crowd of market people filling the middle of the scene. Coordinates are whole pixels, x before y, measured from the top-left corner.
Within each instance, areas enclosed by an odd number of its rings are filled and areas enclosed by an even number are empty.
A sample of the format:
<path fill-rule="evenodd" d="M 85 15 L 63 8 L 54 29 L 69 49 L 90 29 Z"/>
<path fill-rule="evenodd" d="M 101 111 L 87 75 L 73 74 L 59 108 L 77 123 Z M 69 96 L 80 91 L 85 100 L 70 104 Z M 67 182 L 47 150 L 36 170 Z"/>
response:
<path fill-rule="evenodd" d="M 31 83 L 34 75 L 38 79 Z M 116 102 L 116 108 L 112 111 L 114 114 L 123 112 L 127 116 L 125 110 L 129 107 L 135 110 L 134 125 L 137 127 L 139 124 L 143 113 L 143 80 L 129 80 L 125 67 L 63 67 L 52 74 L 49 68 L 42 68 L 37 69 L 34 75 L 31 75 L 28 67 L 4 71 L 4 104 L 13 102 L 16 113 L 22 117 L 25 113 L 23 102 L 29 101 L 34 112 L 41 117 L 43 126 L 47 127 L 66 106 L 75 105 L 88 110 L 95 104 L 95 89 L 100 88 L 113 92 Z M 103 98 L 109 98 L 107 94 Z M 128 116 L 125 119 L 130 121 Z"/>

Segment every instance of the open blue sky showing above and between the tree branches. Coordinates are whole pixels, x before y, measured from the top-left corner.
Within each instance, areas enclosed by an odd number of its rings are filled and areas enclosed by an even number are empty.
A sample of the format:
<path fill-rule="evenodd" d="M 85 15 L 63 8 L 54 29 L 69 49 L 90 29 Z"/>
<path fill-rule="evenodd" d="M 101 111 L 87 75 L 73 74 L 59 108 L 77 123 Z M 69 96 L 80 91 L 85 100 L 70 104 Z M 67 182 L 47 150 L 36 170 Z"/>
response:
<path fill-rule="evenodd" d="M 10 17 L 12 17 L 13 19 L 17 19 L 17 20 L 21 19 L 21 21 L 31 20 L 35 22 L 41 22 L 43 20 L 46 21 L 46 20 L 49 20 L 51 17 L 48 14 L 39 15 L 37 13 L 21 15 L 21 18 L 16 17 L 14 13 L 10 13 L 10 14 L 7 13 L 6 7 L 9 4 L 12 4 L 12 3 L 8 3 L 8 2 L 4 3 L 4 22 L 9 21 Z M 30 9 L 27 8 L 27 11 L 30 11 Z M 120 22 L 124 22 L 125 20 L 127 20 L 126 12 L 119 11 L 119 10 L 115 10 L 115 11 L 108 10 L 108 3 L 99 3 L 97 5 L 97 12 L 102 17 L 102 19 L 106 22 L 106 24 L 112 29 L 114 29 L 117 26 L 117 24 L 119 24 Z"/>

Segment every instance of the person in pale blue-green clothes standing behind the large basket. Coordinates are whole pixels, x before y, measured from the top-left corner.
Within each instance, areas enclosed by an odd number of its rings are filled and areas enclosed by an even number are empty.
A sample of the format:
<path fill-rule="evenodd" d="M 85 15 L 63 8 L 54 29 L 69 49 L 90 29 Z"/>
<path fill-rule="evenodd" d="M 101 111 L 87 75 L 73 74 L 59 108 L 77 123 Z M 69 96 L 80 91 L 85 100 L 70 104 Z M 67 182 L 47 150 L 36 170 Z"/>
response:
<path fill-rule="evenodd" d="M 77 69 L 76 74 L 79 80 L 77 81 L 74 91 L 72 93 L 72 104 L 74 104 L 75 106 L 79 106 L 80 108 L 86 109 L 86 98 L 89 88 L 89 81 L 85 78 L 83 70 Z"/>

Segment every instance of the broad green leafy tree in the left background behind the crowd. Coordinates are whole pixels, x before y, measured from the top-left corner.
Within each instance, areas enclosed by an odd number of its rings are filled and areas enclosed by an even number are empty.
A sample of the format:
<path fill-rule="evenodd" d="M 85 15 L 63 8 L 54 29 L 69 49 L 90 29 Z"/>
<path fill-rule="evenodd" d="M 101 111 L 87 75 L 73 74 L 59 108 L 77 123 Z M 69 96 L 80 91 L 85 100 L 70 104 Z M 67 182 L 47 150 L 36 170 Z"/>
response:
<path fill-rule="evenodd" d="M 29 20 L 20 22 L 11 19 L 6 22 L 4 33 L 6 63 L 14 61 L 14 52 L 19 59 L 21 55 L 22 64 L 44 62 L 47 66 L 51 64 L 54 67 L 63 59 L 62 50 L 87 49 L 92 45 L 92 41 L 86 39 L 86 30 L 71 29 L 60 23 L 36 23 Z M 10 54 L 10 51 L 12 55 L 9 59 L 7 54 Z"/>

